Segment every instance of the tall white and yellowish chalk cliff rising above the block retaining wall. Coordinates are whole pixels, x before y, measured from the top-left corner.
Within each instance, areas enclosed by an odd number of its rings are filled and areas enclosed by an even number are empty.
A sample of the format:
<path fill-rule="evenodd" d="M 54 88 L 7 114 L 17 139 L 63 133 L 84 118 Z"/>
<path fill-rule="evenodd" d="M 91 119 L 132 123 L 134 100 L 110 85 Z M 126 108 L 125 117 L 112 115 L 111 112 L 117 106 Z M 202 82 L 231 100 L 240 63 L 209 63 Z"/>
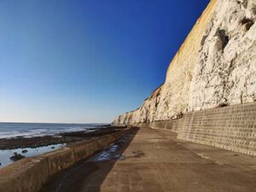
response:
<path fill-rule="evenodd" d="M 175 119 L 256 100 L 256 0 L 212 0 L 173 58 L 166 82 L 114 124 Z"/>

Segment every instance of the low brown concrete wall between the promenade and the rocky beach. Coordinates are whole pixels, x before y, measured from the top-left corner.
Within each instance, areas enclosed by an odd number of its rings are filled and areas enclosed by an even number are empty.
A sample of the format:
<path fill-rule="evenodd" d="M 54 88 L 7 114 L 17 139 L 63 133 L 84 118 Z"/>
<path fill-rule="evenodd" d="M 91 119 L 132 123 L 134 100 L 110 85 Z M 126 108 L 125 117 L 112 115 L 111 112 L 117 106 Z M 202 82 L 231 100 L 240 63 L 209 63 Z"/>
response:
<path fill-rule="evenodd" d="M 131 129 L 19 160 L 0 169 L 0 192 L 36 192 L 57 172 L 114 143 Z"/>

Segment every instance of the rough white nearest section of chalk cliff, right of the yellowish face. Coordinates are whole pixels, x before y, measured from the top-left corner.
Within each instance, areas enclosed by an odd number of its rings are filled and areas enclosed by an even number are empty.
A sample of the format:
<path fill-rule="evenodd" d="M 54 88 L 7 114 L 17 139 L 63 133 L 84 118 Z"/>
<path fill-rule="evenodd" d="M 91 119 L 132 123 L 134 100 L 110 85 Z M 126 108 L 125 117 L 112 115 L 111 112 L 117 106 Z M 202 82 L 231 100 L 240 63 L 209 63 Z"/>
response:
<path fill-rule="evenodd" d="M 219 1 L 198 54 L 189 111 L 256 99 L 256 1 Z"/>

